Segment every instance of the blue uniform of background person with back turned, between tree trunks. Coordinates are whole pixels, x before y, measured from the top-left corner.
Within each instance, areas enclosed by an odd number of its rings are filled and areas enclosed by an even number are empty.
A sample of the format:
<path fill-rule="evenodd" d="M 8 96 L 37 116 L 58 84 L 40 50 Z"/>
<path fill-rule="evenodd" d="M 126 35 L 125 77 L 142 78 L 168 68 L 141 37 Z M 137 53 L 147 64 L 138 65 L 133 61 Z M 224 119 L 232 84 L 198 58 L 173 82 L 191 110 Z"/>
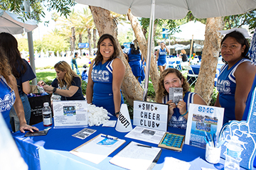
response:
<path fill-rule="evenodd" d="M 139 50 L 139 54 L 135 55 L 131 53 L 131 50 L 127 53 L 129 57 L 129 66 L 132 68 L 134 77 L 142 77 L 142 53 Z"/>

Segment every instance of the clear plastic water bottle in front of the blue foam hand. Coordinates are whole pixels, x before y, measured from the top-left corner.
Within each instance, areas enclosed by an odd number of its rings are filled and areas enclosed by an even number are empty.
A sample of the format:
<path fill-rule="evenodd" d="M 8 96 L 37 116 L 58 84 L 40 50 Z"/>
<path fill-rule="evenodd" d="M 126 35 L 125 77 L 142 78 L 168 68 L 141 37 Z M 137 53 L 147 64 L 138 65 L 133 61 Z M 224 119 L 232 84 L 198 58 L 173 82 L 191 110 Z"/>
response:
<path fill-rule="evenodd" d="M 240 169 L 240 162 L 241 162 L 241 152 L 242 147 L 240 145 L 240 141 L 238 140 L 237 136 L 232 136 L 231 140 L 228 142 L 227 145 L 227 152 L 225 155 L 225 170 L 239 170 Z"/>

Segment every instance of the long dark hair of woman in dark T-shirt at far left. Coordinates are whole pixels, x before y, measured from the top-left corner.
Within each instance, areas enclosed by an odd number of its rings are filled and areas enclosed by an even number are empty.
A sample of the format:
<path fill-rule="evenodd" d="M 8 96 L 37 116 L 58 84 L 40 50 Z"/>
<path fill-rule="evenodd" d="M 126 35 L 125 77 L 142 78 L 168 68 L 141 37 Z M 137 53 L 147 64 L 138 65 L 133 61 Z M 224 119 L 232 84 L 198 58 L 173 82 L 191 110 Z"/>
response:
<path fill-rule="evenodd" d="M 26 72 L 26 63 L 21 58 L 21 53 L 18 51 L 18 42 L 13 35 L 9 33 L 0 33 L 0 46 L 3 48 L 6 57 L 9 60 L 12 74 L 14 77 L 21 77 L 21 74 Z"/>

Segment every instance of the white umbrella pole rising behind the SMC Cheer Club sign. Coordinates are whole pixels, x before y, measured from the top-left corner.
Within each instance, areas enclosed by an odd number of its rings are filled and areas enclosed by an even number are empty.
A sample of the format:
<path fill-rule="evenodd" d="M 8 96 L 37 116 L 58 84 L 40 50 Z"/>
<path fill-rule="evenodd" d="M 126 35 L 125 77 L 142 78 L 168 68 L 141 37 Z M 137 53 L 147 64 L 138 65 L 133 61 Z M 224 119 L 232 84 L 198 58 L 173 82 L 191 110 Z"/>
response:
<path fill-rule="evenodd" d="M 150 63 L 151 63 L 151 45 L 153 42 L 155 4 L 156 4 L 156 1 L 152 0 L 150 22 L 149 22 L 149 37 L 148 37 L 148 50 L 147 50 L 147 56 L 146 56 L 146 73 L 145 73 L 143 101 L 146 101 L 147 91 L 149 88 L 149 69 L 150 69 Z"/>

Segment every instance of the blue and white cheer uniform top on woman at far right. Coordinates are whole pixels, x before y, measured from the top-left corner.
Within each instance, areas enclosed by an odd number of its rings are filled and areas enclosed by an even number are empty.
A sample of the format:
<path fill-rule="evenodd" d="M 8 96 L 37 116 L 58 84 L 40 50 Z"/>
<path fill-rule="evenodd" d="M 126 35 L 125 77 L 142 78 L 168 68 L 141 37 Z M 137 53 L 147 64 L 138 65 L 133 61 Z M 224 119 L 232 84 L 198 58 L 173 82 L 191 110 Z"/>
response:
<path fill-rule="evenodd" d="M 224 110 L 223 125 L 229 120 L 235 120 L 235 70 L 242 62 L 251 62 L 248 59 L 241 59 L 228 69 L 228 64 L 225 64 L 220 69 L 220 75 L 217 81 L 217 90 L 219 92 L 219 102 Z"/>

